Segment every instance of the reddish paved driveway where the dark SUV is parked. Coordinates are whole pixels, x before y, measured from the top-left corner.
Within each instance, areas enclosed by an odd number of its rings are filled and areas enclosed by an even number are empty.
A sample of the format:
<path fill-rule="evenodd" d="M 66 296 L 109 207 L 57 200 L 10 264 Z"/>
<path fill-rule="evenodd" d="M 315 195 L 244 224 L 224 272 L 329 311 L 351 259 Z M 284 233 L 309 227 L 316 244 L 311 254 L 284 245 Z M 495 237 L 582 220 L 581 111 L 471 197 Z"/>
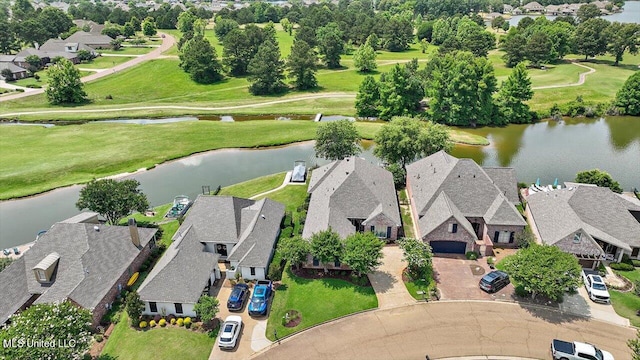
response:
<path fill-rule="evenodd" d="M 513 285 L 488 294 L 478 287 L 484 274 L 491 271 L 486 260 L 467 260 L 464 255 L 433 257 L 433 270 L 441 300 L 506 300 L 512 301 Z"/>

